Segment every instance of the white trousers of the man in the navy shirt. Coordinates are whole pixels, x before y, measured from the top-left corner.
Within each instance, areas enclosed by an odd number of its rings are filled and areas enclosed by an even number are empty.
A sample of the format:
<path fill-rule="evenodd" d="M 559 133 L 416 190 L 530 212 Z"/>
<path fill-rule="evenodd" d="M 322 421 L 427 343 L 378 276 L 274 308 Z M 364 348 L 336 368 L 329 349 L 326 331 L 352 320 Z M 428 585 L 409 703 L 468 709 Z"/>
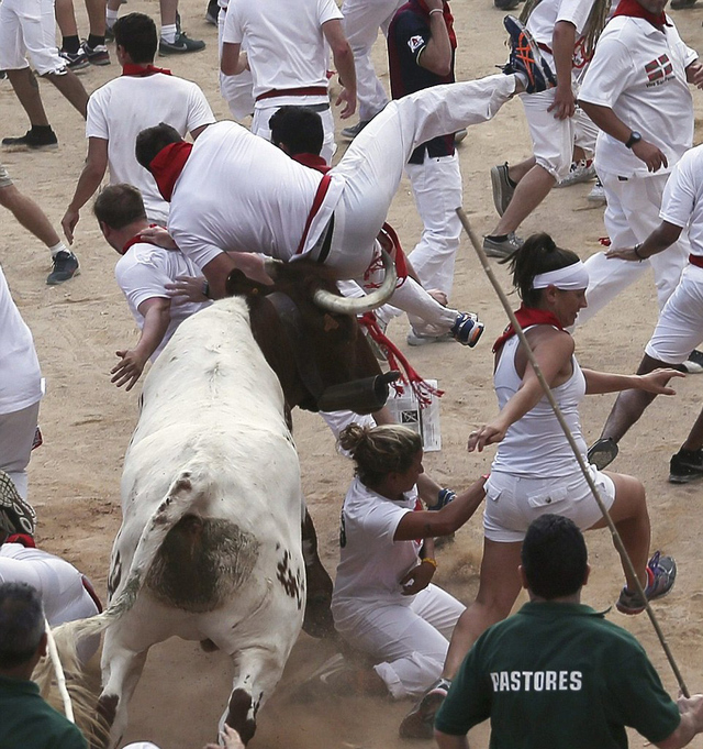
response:
<path fill-rule="evenodd" d="M 422 285 L 438 288 L 447 296 L 454 284 L 454 265 L 461 236 L 461 221 L 456 209 L 461 207 L 462 187 L 459 158 L 432 157 L 405 167 L 423 222 L 420 242 L 409 257 Z"/>

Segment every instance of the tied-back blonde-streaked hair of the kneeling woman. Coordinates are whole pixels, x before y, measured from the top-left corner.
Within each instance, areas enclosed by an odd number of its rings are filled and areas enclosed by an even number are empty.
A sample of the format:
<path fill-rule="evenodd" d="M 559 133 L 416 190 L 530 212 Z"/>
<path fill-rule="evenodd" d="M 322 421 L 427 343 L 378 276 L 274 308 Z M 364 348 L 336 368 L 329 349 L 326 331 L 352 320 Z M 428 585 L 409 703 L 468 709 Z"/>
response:
<path fill-rule="evenodd" d="M 420 434 L 398 425 L 361 427 L 352 423 L 339 434 L 339 444 L 352 453 L 355 474 L 371 488 L 389 473 L 408 471 L 422 450 Z"/>

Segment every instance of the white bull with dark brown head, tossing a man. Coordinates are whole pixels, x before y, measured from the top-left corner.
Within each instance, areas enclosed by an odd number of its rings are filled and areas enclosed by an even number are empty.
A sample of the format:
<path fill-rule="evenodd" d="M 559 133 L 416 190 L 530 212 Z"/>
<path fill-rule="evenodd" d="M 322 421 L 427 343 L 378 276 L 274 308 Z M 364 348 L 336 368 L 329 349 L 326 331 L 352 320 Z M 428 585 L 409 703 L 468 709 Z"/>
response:
<path fill-rule="evenodd" d="M 387 395 L 381 382 L 380 397 L 358 407 L 345 401 L 344 385 L 380 374 L 350 313 L 381 304 L 394 274 L 370 299 L 345 300 L 319 266 L 271 261 L 267 269 L 275 289 L 235 272 L 228 289 L 246 291 L 248 305 L 234 296 L 186 320 L 144 383 L 124 460 L 110 604 L 69 625 L 70 636 L 105 630 L 99 711 L 111 746 L 126 728 L 148 649 L 172 636 L 233 659 L 220 727 L 226 722 L 252 738 L 320 564 L 303 559 L 301 527 L 312 524 L 290 411 L 325 403 L 375 410 Z"/>

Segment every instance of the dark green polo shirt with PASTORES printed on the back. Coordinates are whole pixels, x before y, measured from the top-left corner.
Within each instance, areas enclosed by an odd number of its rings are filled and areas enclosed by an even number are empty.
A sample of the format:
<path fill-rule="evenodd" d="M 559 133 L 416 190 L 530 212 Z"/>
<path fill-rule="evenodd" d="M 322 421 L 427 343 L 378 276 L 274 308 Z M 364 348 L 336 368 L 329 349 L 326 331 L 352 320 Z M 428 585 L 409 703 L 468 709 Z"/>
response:
<path fill-rule="evenodd" d="M 681 720 L 643 647 L 589 606 L 528 603 L 476 641 L 435 727 L 464 736 L 491 719 L 491 749 L 625 749 Z"/>

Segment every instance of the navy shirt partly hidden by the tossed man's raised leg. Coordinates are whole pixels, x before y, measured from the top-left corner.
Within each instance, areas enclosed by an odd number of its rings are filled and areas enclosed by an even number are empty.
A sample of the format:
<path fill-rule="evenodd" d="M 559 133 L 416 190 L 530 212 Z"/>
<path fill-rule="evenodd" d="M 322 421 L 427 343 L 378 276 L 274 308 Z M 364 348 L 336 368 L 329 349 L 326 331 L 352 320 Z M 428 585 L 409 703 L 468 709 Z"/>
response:
<path fill-rule="evenodd" d="M 446 7 L 448 10 L 448 5 Z M 448 19 L 448 29 L 451 32 L 450 14 Z M 431 38 L 429 14 L 422 0 L 410 0 L 395 11 L 388 29 L 388 66 L 393 99 L 400 99 L 431 86 L 454 82 L 454 48 L 451 71 L 448 76 L 438 76 L 420 65 L 420 55 Z M 434 137 L 417 146 L 410 157 L 410 163 L 422 164 L 425 161 L 425 151 L 434 157 L 450 156 L 454 153 L 454 133 Z"/>

